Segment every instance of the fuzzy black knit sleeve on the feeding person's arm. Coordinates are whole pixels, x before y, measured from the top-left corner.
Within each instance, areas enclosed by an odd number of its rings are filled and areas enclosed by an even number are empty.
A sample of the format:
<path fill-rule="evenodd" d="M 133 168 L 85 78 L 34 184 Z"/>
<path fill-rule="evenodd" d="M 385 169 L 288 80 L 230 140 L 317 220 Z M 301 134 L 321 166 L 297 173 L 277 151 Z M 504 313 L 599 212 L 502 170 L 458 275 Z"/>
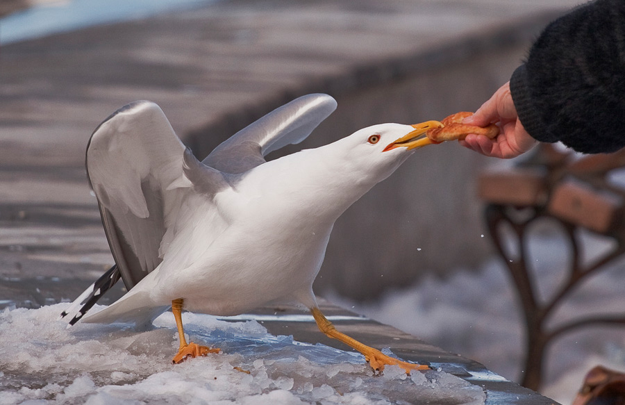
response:
<path fill-rule="evenodd" d="M 510 78 L 533 138 L 584 153 L 625 147 L 625 0 L 597 0 L 545 28 Z"/>

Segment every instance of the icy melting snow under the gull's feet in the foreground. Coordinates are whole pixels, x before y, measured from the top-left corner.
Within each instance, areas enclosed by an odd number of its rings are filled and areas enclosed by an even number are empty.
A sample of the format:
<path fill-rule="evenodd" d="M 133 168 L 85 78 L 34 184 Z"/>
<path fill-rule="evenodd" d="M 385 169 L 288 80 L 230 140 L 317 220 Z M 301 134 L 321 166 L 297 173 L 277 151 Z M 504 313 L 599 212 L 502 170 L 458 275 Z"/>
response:
<path fill-rule="evenodd" d="M 190 339 L 222 353 L 172 365 L 178 342 L 171 313 L 148 331 L 80 322 L 68 328 L 56 320 L 67 306 L 0 313 L 0 405 L 485 401 L 482 388 L 445 372 L 406 376 L 389 366 L 374 375 L 360 354 L 273 336 L 253 320 L 193 313 L 183 314 Z"/>

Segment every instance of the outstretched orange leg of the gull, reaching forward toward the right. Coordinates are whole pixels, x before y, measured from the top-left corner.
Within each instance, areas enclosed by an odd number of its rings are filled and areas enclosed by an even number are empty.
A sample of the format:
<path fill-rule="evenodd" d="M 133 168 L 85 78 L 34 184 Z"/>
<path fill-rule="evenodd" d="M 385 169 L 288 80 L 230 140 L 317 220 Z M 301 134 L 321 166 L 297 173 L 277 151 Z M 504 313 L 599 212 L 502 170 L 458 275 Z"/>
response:
<path fill-rule="evenodd" d="M 319 308 L 310 308 L 310 312 L 313 313 L 313 317 L 317 322 L 317 327 L 321 329 L 323 333 L 327 336 L 340 340 L 345 343 L 349 347 L 358 350 L 358 352 L 365 355 L 365 361 L 369 362 L 369 365 L 376 370 L 382 371 L 384 370 L 385 365 L 399 365 L 399 367 L 406 370 L 406 374 L 410 374 L 412 370 L 429 370 L 430 367 L 427 365 L 420 365 L 414 363 L 407 363 L 406 361 L 397 360 L 397 358 L 392 358 L 380 352 L 378 349 L 374 349 L 373 347 L 369 347 L 367 345 L 363 345 L 363 343 L 358 342 L 358 340 L 354 338 L 350 338 L 344 333 L 341 333 L 336 330 L 332 322 L 328 321 L 328 319 L 319 311 Z"/>

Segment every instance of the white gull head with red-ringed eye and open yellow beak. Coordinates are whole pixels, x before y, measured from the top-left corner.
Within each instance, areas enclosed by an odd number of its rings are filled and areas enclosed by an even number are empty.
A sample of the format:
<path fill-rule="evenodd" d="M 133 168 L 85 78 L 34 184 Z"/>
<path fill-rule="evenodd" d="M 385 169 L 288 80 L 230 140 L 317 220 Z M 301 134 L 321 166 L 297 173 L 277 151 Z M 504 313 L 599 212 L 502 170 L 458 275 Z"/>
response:
<path fill-rule="evenodd" d="M 382 181 L 416 149 L 430 144 L 426 132 L 443 126 L 438 121 L 420 124 L 377 124 L 367 126 L 343 138 L 344 151 L 354 170 L 369 173 L 374 181 Z"/>

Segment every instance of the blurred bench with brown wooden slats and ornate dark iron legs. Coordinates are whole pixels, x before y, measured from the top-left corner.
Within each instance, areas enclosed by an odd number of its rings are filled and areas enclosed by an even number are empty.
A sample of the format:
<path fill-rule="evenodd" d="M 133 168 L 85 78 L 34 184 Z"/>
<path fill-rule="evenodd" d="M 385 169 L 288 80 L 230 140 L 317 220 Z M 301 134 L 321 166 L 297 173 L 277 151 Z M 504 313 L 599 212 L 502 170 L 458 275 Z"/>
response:
<path fill-rule="evenodd" d="M 556 329 L 546 326 L 547 318 L 583 279 L 625 253 L 625 189 L 609 181 L 610 174 L 623 167 L 625 151 L 576 158 L 551 144 L 542 144 L 522 165 L 480 176 L 478 192 L 487 204 L 488 231 L 510 272 L 524 314 L 523 386 L 534 390 L 540 386 L 547 345 L 563 333 L 592 324 L 625 324 L 625 316 L 596 315 L 578 317 Z M 561 224 L 573 257 L 560 288 L 540 301 L 535 276 L 528 268 L 527 242 L 531 224 L 546 218 Z M 511 229 L 513 237 L 510 231 L 506 235 L 505 229 Z M 615 249 L 593 263 L 582 263 L 581 229 L 612 238 Z"/>

